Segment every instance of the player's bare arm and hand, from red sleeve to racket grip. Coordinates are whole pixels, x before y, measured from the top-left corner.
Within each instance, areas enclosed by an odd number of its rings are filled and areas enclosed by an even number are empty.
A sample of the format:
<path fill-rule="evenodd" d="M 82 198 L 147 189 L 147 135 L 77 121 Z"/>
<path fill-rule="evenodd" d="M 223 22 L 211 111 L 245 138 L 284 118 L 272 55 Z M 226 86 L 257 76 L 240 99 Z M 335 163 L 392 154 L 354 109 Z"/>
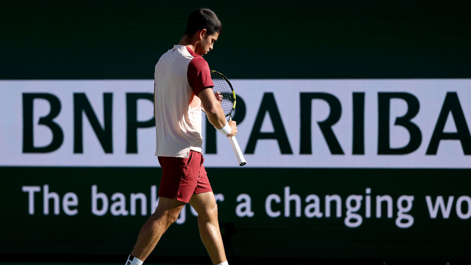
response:
<path fill-rule="evenodd" d="M 224 112 L 221 108 L 221 103 L 214 96 L 214 91 L 212 88 L 205 88 L 200 91 L 198 97 L 201 100 L 201 104 L 203 104 L 204 112 L 206 112 L 206 116 L 208 116 L 209 122 L 217 129 L 220 129 L 226 125 L 226 116 L 224 116 Z M 237 134 L 237 127 L 235 126 L 235 121 L 229 121 L 229 126 L 232 129 L 232 132 L 227 135 L 227 137 L 235 136 Z"/>

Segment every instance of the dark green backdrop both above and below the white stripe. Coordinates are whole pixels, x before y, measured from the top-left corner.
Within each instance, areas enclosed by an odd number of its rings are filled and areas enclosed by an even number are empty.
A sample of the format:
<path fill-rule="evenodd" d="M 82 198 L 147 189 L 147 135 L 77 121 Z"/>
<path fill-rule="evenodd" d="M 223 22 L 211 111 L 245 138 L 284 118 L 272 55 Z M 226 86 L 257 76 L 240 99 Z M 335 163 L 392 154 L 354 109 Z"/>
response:
<path fill-rule="evenodd" d="M 153 79 L 158 58 L 179 42 L 188 14 L 199 7 L 212 8 L 223 24 L 204 58 L 231 79 L 471 78 L 465 1 L 3 0 L 0 79 Z M 0 168 L 0 253 L 127 255 L 147 217 L 93 216 L 91 185 L 108 196 L 149 195 L 160 170 Z M 456 217 L 455 208 L 450 219 L 430 219 L 424 198 L 470 196 L 470 169 L 240 168 L 226 169 L 225 178 L 217 177 L 219 170 L 208 173 L 216 193 L 226 197 L 220 222 L 237 229 L 230 256 L 471 259 L 470 219 Z M 240 176 L 243 182 L 235 179 Z M 36 215 L 28 215 L 21 186 L 45 184 L 61 196 L 77 193 L 79 214 L 44 216 L 37 204 Z M 321 205 L 325 194 L 340 194 L 344 202 L 349 194 L 365 194 L 366 187 L 394 202 L 414 195 L 415 224 L 398 228 L 397 208 L 394 218 L 364 219 L 358 228 L 346 227 L 344 217 L 267 217 L 265 198 L 283 195 L 288 185 L 302 199 L 319 195 Z M 253 218 L 235 216 L 240 193 L 252 196 Z M 181 238 L 192 247 L 185 253 L 172 248 Z M 206 255 L 189 211 L 186 223 L 173 225 L 153 255 Z"/>

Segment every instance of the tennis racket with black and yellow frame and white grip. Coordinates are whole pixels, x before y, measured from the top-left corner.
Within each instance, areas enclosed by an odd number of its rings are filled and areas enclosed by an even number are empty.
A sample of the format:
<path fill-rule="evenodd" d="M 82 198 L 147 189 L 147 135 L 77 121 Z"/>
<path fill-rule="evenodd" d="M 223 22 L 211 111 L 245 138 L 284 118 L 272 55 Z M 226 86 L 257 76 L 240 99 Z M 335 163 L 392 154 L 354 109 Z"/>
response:
<path fill-rule="evenodd" d="M 211 70 L 211 80 L 214 83 L 214 87 L 212 90 L 214 93 L 218 92 L 221 93 L 222 96 L 221 107 L 224 111 L 224 115 L 229 116 L 229 121 L 232 120 L 232 114 L 234 113 L 235 109 L 235 92 L 234 88 L 232 88 L 231 83 L 227 78 L 222 75 L 220 72 L 216 72 Z M 239 144 L 235 139 L 235 136 L 229 137 L 229 141 L 231 142 L 232 149 L 234 150 L 235 157 L 237 157 L 237 161 L 239 161 L 239 166 L 244 166 L 247 162 L 244 159 L 244 155 L 240 150 Z"/>

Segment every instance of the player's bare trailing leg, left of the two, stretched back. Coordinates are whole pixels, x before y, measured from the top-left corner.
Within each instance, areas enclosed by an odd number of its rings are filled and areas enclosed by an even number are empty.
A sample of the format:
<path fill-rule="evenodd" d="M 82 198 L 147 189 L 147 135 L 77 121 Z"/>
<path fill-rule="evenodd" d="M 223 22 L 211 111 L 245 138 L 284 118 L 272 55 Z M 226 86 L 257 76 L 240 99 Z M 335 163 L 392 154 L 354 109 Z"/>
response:
<path fill-rule="evenodd" d="M 144 261 L 154 250 L 163 233 L 177 220 L 185 202 L 165 197 L 159 198 L 159 205 L 154 214 L 147 219 L 139 232 L 138 240 L 131 255 Z"/>

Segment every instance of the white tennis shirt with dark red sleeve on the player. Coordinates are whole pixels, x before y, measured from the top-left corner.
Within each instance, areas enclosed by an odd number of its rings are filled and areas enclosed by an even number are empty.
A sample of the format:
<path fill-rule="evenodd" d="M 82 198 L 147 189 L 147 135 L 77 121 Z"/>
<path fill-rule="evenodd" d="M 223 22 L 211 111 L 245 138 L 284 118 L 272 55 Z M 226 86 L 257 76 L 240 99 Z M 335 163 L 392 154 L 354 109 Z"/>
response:
<path fill-rule="evenodd" d="M 213 87 L 208 63 L 186 46 L 175 45 L 155 65 L 156 156 L 188 158 L 202 152 L 203 88 Z"/>

